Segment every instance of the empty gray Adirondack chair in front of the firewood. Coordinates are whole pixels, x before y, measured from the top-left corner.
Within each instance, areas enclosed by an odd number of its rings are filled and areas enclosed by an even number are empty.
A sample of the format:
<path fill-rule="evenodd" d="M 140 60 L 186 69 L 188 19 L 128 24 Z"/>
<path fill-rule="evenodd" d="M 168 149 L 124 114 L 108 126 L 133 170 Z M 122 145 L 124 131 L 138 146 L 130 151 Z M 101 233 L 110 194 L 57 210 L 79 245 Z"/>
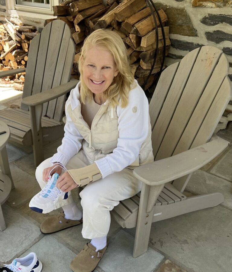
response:
<path fill-rule="evenodd" d="M 77 80 L 70 80 L 75 44 L 65 22 L 55 20 L 46 25 L 31 41 L 27 68 L 0 73 L 0 77 L 26 71 L 20 109 L 0 111 L 11 132 L 11 140 L 33 145 L 35 167 L 43 161 L 43 142 L 63 137 L 65 94 Z"/>

